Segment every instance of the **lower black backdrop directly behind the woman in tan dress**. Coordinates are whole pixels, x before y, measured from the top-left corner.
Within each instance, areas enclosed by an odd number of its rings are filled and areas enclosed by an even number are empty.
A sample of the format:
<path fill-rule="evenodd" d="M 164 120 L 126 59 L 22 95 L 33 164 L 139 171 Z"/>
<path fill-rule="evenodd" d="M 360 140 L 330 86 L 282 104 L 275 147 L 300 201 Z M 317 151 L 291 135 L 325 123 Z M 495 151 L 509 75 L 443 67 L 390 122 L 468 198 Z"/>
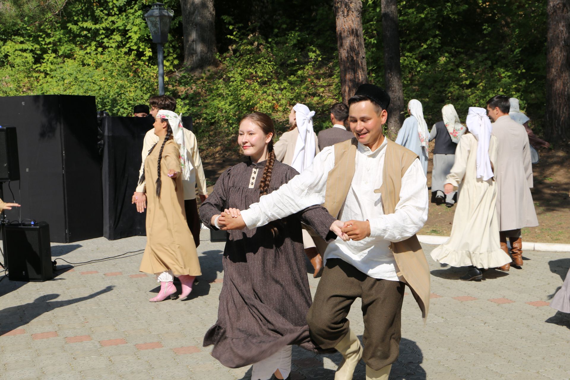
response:
<path fill-rule="evenodd" d="M 109 240 L 146 234 L 146 213 L 137 213 L 131 202 L 139 182 L 144 136 L 153 122 L 152 117 L 102 119 L 103 236 Z M 182 125 L 192 130 L 192 117 L 182 117 Z"/>

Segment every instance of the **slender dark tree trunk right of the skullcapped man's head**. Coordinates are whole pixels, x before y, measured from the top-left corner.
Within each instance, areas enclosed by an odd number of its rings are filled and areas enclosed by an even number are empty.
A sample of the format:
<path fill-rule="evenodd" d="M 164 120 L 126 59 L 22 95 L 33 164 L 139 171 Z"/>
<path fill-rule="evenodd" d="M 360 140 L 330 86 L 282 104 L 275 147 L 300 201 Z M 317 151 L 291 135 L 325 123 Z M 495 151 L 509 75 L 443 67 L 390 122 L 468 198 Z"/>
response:
<path fill-rule="evenodd" d="M 400 68 L 400 35 L 398 34 L 398 5 L 396 0 L 382 0 L 382 38 L 384 40 L 384 81 L 390 95 L 388 138 L 396 140 L 404 122 L 404 91 Z"/>

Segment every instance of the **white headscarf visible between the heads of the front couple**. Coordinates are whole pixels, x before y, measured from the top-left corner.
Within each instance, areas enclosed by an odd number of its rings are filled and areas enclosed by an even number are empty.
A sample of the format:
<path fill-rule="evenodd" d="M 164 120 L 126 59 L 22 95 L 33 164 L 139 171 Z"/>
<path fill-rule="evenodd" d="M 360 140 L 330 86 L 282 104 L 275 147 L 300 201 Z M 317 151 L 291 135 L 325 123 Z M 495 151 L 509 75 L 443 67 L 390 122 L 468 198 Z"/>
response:
<path fill-rule="evenodd" d="M 295 120 L 299 136 L 295 144 L 291 166 L 301 173 L 311 166 L 313 158 L 315 158 L 315 132 L 313 131 L 315 111 L 310 111 L 306 105 L 300 103 L 295 104 L 293 109 L 296 113 Z"/>

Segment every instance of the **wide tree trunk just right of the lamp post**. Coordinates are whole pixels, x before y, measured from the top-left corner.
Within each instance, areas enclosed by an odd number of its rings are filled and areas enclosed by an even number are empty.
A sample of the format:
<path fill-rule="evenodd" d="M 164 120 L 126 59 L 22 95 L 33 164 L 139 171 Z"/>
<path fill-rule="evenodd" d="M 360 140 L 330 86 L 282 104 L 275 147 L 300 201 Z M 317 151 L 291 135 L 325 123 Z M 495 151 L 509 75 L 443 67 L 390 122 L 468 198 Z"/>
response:
<path fill-rule="evenodd" d="M 184 31 L 184 66 L 201 70 L 215 62 L 214 0 L 180 0 Z"/>

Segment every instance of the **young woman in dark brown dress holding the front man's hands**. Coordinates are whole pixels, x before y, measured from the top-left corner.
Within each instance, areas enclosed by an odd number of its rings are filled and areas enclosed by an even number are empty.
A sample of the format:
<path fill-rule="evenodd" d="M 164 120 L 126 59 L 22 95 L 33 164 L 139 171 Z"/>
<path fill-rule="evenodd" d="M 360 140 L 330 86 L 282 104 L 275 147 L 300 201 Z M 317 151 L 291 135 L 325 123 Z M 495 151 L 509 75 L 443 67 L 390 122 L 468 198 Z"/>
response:
<path fill-rule="evenodd" d="M 200 207 L 204 224 L 213 230 L 224 226 L 231 214 L 247 209 L 298 174 L 275 159 L 274 135 L 273 122 L 264 113 L 242 119 L 238 144 L 247 160 L 219 177 Z M 227 367 L 253 364 L 252 380 L 267 380 L 273 374 L 287 378 L 291 345 L 316 350 L 306 322 L 312 299 L 301 222 L 323 239 L 336 238 L 329 235 L 328 227 L 335 218 L 321 206 L 264 227 L 227 234 L 218 321 L 203 344 L 213 344 L 212 355 Z"/>

